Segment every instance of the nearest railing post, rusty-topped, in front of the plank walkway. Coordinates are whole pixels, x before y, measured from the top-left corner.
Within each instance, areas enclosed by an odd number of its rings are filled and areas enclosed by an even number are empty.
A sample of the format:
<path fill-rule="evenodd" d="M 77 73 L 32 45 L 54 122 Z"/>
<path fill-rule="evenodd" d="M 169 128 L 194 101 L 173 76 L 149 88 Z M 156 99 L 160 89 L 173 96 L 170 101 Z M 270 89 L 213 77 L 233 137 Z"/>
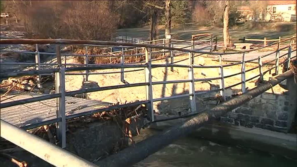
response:
<path fill-rule="evenodd" d="M 56 98 L 57 118 L 61 118 L 61 122 L 56 123 L 57 138 L 59 145 L 62 148 L 66 147 L 66 116 L 65 116 L 65 68 L 61 63 L 60 45 L 56 44 L 56 56 L 60 67 L 60 71 L 55 73 L 56 93 L 61 94 L 61 97 Z"/>

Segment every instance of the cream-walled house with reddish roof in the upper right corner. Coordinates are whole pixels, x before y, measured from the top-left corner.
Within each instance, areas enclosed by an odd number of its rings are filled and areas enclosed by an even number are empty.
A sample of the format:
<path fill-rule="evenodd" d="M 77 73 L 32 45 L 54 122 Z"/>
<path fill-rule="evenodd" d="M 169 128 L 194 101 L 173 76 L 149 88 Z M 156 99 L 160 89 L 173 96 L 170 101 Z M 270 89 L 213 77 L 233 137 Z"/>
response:
<path fill-rule="evenodd" d="M 295 1 L 268 1 L 266 21 L 296 21 Z"/>

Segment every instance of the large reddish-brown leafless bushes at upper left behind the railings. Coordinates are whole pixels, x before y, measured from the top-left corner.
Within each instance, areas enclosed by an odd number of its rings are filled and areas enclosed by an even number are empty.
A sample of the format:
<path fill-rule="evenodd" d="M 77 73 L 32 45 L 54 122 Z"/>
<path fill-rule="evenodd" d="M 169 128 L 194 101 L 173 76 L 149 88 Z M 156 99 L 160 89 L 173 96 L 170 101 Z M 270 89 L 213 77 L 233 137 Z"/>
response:
<path fill-rule="evenodd" d="M 17 1 L 26 31 L 39 38 L 108 40 L 119 17 L 107 1 Z"/>

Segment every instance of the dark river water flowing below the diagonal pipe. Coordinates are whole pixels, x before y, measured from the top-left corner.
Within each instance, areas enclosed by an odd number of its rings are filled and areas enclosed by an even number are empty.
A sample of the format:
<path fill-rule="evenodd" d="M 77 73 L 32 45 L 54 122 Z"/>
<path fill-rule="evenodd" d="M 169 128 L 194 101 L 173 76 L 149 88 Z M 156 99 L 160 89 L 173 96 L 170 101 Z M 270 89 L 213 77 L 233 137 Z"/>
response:
<path fill-rule="evenodd" d="M 158 130 L 146 128 L 135 137 L 141 141 Z M 297 160 L 240 146 L 216 144 L 195 137 L 180 138 L 164 149 L 150 155 L 134 167 L 296 167 Z"/>

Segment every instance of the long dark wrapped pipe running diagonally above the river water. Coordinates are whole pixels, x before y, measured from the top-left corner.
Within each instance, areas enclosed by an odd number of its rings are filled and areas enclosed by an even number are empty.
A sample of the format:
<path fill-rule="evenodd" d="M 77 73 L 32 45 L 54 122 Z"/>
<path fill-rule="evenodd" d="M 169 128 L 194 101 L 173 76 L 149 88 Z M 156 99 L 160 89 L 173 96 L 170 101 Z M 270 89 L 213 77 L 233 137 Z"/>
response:
<path fill-rule="evenodd" d="M 282 75 L 277 76 L 270 81 L 263 83 L 248 92 L 233 97 L 232 99 L 226 101 L 225 103 L 219 104 L 216 107 L 203 112 L 182 124 L 171 127 L 168 130 L 164 130 L 162 133 L 151 136 L 143 141 L 138 142 L 134 146 L 130 146 L 118 152 L 115 155 L 111 155 L 101 161 L 95 163 L 100 167 L 122 167 L 131 166 L 149 155 L 157 152 L 158 150 L 164 148 L 168 144 L 172 143 L 181 136 L 185 136 L 199 127 L 203 126 L 211 119 L 217 119 L 222 114 L 225 114 L 240 105 L 252 100 L 254 97 L 264 93 L 273 86 L 284 81 L 285 79 L 293 77 L 293 71 L 289 70 Z"/>

